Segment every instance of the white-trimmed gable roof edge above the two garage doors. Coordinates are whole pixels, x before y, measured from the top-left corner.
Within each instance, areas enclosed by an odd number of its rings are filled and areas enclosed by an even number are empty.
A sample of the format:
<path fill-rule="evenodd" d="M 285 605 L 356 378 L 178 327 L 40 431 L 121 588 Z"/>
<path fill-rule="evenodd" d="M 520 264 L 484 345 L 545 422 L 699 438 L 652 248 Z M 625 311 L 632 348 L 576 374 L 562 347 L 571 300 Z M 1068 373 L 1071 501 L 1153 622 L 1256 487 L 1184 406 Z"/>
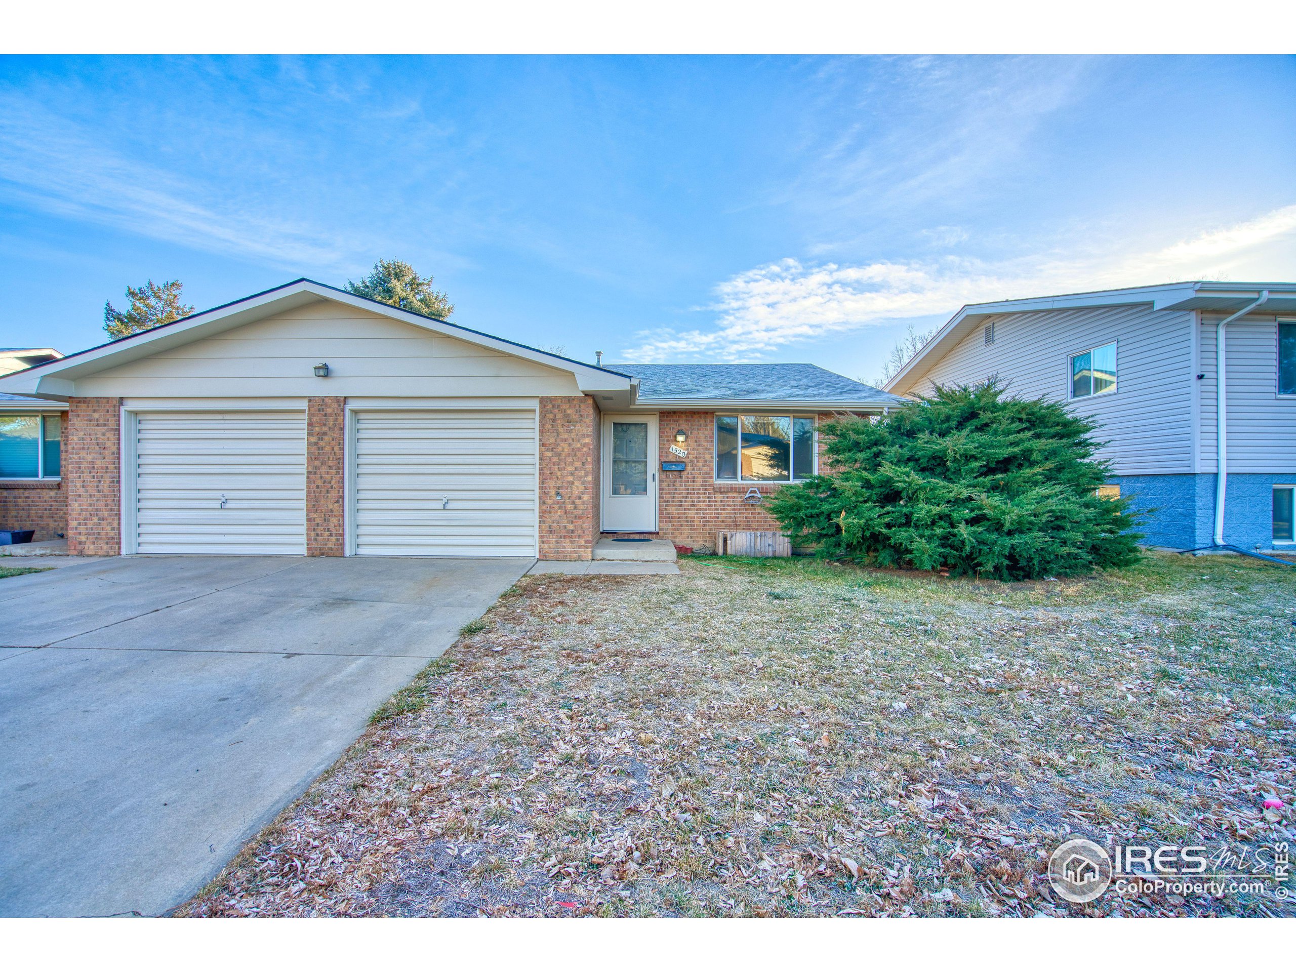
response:
<path fill-rule="evenodd" d="M 358 297 L 349 290 L 307 280 L 306 277 L 293 280 L 271 290 L 263 290 L 259 294 L 253 294 L 240 301 L 201 311 L 200 314 L 191 314 L 188 318 L 180 318 L 168 324 L 161 324 L 156 328 L 117 338 L 115 341 L 109 341 L 84 351 L 76 351 L 60 360 L 16 371 L 0 377 L 0 390 L 38 394 L 49 398 L 66 398 L 71 394 L 73 380 L 76 377 L 93 375 L 139 358 L 146 358 L 158 351 L 180 347 L 192 341 L 200 341 L 205 337 L 211 337 L 213 334 L 219 334 L 224 330 L 231 330 L 319 299 L 346 303 L 446 337 L 468 341 L 469 343 L 490 347 L 503 354 L 511 354 L 551 368 L 572 372 L 577 386 L 582 391 L 632 393 L 634 380 L 629 375 L 575 362 L 548 351 L 540 351 L 535 347 L 520 345 L 516 341 L 507 341 L 502 337 L 494 337 L 481 330 L 451 324 L 438 318 L 406 311 L 381 301 L 369 299 L 368 297 Z"/>

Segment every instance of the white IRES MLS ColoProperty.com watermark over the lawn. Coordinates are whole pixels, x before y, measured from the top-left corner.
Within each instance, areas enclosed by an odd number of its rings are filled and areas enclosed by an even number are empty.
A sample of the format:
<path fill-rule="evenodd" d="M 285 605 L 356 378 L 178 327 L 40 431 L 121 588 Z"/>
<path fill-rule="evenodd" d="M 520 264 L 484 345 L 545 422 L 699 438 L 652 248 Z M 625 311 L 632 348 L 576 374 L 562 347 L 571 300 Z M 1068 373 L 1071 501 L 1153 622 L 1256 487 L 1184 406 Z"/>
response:
<path fill-rule="evenodd" d="M 1063 901 L 1085 905 L 1108 889 L 1117 894 L 1222 897 L 1292 896 L 1291 846 L 1113 844 L 1108 851 L 1091 840 L 1069 840 L 1048 858 L 1048 883 Z"/>

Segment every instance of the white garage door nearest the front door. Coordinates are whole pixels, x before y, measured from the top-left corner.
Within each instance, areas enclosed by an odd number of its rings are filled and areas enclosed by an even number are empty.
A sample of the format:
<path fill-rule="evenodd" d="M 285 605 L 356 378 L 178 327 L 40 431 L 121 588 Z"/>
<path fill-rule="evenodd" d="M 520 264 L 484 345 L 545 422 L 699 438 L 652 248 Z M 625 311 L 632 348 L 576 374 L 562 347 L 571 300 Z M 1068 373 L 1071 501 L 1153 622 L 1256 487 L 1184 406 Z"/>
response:
<path fill-rule="evenodd" d="M 358 412 L 355 552 L 534 557 L 535 412 Z"/>

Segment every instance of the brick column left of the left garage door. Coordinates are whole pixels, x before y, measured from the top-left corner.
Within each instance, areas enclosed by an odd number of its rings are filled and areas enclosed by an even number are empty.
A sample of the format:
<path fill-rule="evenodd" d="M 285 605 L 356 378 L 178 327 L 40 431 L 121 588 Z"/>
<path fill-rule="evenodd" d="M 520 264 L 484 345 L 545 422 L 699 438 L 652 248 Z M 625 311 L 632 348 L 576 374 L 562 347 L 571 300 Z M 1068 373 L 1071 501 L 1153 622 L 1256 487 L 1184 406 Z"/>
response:
<path fill-rule="evenodd" d="M 64 430 L 67 552 L 122 552 L 122 399 L 73 398 Z"/>

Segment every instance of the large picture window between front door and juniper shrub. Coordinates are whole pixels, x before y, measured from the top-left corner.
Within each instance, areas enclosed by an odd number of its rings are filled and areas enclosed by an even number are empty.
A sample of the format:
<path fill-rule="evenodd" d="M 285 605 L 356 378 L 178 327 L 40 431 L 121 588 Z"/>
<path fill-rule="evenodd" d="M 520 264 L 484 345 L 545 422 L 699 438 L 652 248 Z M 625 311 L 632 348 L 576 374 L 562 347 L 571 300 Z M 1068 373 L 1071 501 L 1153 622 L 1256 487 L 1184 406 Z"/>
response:
<path fill-rule="evenodd" d="M 717 415 L 715 478 L 791 482 L 814 476 L 814 419 L 798 415 Z"/>

